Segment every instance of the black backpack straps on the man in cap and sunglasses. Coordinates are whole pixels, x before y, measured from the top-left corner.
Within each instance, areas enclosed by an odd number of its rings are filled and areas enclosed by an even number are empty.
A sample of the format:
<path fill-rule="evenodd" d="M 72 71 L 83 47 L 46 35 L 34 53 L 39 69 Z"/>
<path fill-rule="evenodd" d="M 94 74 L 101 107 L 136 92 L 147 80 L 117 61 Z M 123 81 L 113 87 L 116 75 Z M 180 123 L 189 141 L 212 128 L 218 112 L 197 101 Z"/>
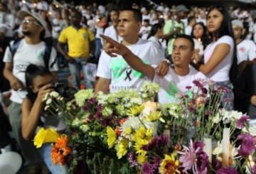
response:
<path fill-rule="evenodd" d="M 18 49 L 18 46 L 21 43 L 21 40 L 22 40 L 22 38 L 18 39 L 18 40 L 14 40 L 14 44 L 13 45 L 9 44 L 9 48 L 10 48 L 10 51 L 11 51 L 12 59 L 14 59 L 14 55 L 16 53 L 16 50 Z M 55 60 L 49 66 L 50 52 L 51 52 L 52 47 L 49 46 L 45 41 L 43 41 L 43 42 L 46 45 L 46 50 L 45 50 L 45 53 L 43 54 L 43 61 L 44 61 L 44 64 L 45 64 L 46 68 L 49 69 L 49 67 L 50 68 L 53 67 L 53 65 L 57 61 L 57 58 L 55 58 Z M 13 62 L 13 60 L 11 62 Z"/>

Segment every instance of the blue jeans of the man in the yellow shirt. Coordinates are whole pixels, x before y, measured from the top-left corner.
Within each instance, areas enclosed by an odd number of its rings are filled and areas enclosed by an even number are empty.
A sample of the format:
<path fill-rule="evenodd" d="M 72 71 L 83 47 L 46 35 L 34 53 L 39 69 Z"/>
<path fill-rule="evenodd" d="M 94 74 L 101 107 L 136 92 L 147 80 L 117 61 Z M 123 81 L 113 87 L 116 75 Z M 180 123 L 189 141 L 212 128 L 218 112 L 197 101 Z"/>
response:
<path fill-rule="evenodd" d="M 72 63 L 68 63 L 68 68 L 70 70 L 70 74 L 72 75 L 72 83 L 75 89 L 80 89 L 80 72 L 84 75 L 85 86 L 86 89 L 92 89 L 92 82 L 90 79 L 87 78 L 86 75 L 86 66 L 85 66 L 85 59 L 84 58 L 73 58 L 75 61 Z"/>

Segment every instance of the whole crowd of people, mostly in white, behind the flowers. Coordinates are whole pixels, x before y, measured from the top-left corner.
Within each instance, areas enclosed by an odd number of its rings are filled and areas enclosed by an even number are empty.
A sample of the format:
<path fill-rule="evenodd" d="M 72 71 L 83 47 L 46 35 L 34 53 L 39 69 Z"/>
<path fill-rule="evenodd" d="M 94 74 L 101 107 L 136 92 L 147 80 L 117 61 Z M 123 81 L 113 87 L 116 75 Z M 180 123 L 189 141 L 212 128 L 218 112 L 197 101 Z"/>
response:
<path fill-rule="evenodd" d="M 76 90 L 83 82 L 96 94 L 138 91 L 153 80 L 161 86 L 160 103 L 178 102 L 193 80 L 212 80 L 226 89 L 222 107 L 256 119 L 256 10 L 148 3 L 117 9 L 0 2 L 0 90 L 11 92 L 6 113 L 1 102 L 0 146 L 9 148 L 11 130 L 28 173 L 68 173 L 51 163 L 50 144 L 38 150 L 31 141 L 42 126 L 65 130 L 43 115 L 43 95 L 60 70 L 70 72 Z"/>

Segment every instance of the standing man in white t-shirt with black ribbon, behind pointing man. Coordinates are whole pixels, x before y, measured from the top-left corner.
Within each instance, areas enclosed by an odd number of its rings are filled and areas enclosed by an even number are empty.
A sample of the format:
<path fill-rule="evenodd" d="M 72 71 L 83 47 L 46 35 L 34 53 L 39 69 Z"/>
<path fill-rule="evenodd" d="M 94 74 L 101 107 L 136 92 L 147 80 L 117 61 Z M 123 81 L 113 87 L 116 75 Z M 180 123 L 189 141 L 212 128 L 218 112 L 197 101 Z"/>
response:
<path fill-rule="evenodd" d="M 163 60 L 163 52 L 155 43 L 139 38 L 139 28 L 142 26 L 142 13 L 137 9 L 126 9 L 119 13 L 118 31 L 123 38 L 121 44 L 127 46 L 135 55 L 147 64 L 158 64 Z M 166 63 L 167 64 L 167 63 Z M 167 67 L 167 65 L 166 65 Z M 118 89 L 136 89 L 146 77 L 141 72 L 133 70 L 127 65 L 122 55 L 111 58 L 105 51 L 100 55 L 97 67 L 97 76 L 100 77 L 95 92 L 110 92 Z"/>

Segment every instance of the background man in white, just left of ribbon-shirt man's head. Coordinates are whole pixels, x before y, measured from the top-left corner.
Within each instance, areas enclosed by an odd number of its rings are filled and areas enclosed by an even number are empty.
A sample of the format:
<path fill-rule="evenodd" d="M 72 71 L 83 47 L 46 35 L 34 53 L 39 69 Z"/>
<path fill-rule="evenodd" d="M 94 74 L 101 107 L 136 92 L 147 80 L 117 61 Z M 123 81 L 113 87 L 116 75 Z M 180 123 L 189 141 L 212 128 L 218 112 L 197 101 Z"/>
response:
<path fill-rule="evenodd" d="M 110 21 L 111 25 L 108 26 L 105 31 L 104 35 L 109 36 L 110 38 L 116 40 L 116 41 L 121 41 L 122 37 L 119 36 L 117 32 L 117 25 L 118 25 L 118 16 L 119 16 L 119 11 L 117 9 L 112 9 L 110 11 Z M 105 44 L 105 43 L 104 43 Z"/>

